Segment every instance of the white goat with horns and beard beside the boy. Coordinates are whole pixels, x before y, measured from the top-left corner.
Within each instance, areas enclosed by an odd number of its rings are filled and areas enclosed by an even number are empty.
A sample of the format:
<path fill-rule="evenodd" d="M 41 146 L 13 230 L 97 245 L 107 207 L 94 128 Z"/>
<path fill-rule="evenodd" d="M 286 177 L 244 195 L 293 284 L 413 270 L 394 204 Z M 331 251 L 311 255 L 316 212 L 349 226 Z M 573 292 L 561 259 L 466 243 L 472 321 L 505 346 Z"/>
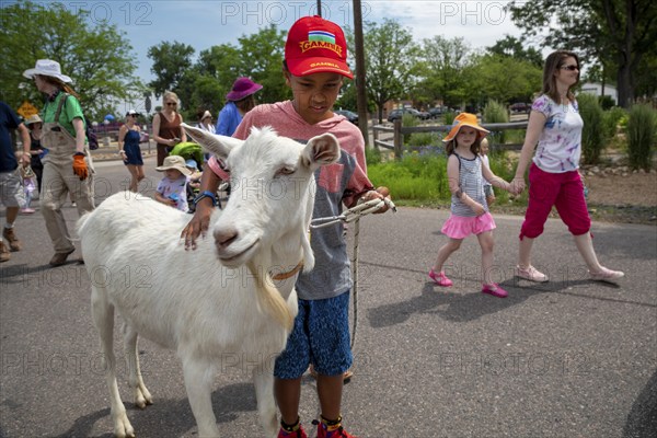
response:
<path fill-rule="evenodd" d="M 139 407 L 152 397 L 139 371 L 137 335 L 176 350 L 200 437 L 219 435 L 211 388 L 227 355 L 253 367 L 261 420 L 275 437 L 273 359 L 297 314 L 295 274 L 314 264 L 308 240 L 314 171 L 335 162 L 339 146 L 330 134 L 301 145 L 269 128 L 253 129 L 242 141 L 184 127 L 231 170 L 231 197 L 210 219 L 214 240 L 185 251 L 178 237 L 191 216 L 130 192 L 108 197 L 78 224 L 114 434 L 135 434 L 116 383 L 116 311 L 125 322 L 128 383 Z"/>

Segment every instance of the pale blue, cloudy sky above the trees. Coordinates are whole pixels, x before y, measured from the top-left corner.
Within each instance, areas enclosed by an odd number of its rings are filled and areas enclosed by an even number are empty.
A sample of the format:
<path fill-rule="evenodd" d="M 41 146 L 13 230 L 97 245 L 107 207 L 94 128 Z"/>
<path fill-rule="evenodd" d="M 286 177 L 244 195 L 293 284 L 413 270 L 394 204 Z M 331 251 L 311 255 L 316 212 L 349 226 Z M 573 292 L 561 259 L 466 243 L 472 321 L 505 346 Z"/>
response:
<path fill-rule="evenodd" d="M 54 3 L 54 2 L 51 2 Z M 275 24 L 287 30 L 300 16 L 316 13 L 316 0 L 219 1 L 151 0 L 57 2 L 72 12 L 89 11 L 92 23 L 115 24 L 132 46 L 136 74 L 146 83 L 153 79 L 148 48 L 163 41 L 180 42 L 200 50 L 220 44 L 238 44 L 243 35 Z M 463 37 L 472 48 L 486 47 L 505 34 L 520 36 L 508 0 L 361 0 L 362 20 L 380 23 L 396 20 L 417 42 L 441 35 Z M 322 0 L 322 16 L 341 26 L 354 27 L 351 0 Z M 366 48 L 367 49 L 367 48 Z"/>

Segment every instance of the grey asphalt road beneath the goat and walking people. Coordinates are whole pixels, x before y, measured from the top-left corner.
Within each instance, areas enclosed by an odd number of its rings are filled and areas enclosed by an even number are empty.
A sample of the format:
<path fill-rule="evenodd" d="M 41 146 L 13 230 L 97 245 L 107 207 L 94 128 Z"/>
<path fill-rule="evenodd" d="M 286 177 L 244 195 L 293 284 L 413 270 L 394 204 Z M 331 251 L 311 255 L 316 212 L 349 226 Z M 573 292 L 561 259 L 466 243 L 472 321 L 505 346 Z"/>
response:
<path fill-rule="evenodd" d="M 123 164 L 96 168 L 99 200 L 125 187 Z M 152 158 L 146 168 L 154 184 Z M 77 212 L 65 210 L 72 229 Z M 626 273 L 611 286 L 587 279 L 565 227 L 550 220 L 534 263 L 552 280 L 532 285 L 511 275 L 521 218 L 497 216 L 496 275 L 510 292 L 498 299 L 479 292 L 475 239 L 450 260 L 452 288 L 429 281 L 447 216 L 400 208 L 361 221 L 356 374 L 343 404 L 347 429 L 368 438 L 654 437 L 657 229 L 595 223 L 600 260 Z M 16 231 L 24 250 L 0 265 L 0 437 L 110 437 L 79 252 L 49 268 L 41 215 L 21 216 Z M 123 356 L 119 345 L 115 349 Z M 196 436 L 175 355 L 146 339 L 139 349 L 152 406 L 134 407 L 119 370 L 138 436 Z M 221 370 L 212 403 L 222 436 L 261 437 L 251 370 L 235 369 L 230 355 Z M 308 378 L 307 429 L 316 412 Z"/>

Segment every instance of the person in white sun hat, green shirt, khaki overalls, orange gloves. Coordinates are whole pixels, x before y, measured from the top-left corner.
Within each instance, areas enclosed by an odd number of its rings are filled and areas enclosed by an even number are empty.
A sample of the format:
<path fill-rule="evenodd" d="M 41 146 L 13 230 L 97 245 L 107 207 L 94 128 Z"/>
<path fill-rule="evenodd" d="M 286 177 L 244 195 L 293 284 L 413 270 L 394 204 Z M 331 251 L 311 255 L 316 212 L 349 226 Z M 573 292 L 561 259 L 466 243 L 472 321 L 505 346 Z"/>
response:
<path fill-rule="evenodd" d="M 42 158 L 44 173 L 39 198 L 55 250 L 50 266 L 60 266 L 76 251 L 61 212 L 67 194 L 77 204 L 80 216 L 94 209 L 93 163 L 87 146 L 84 116 L 78 94 L 68 84 L 71 78 L 61 73 L 59 62 L 39 59 L 23 76 L 34 79 L 37 90 L 46 96 L 41 141 L 48 153 Z"/>

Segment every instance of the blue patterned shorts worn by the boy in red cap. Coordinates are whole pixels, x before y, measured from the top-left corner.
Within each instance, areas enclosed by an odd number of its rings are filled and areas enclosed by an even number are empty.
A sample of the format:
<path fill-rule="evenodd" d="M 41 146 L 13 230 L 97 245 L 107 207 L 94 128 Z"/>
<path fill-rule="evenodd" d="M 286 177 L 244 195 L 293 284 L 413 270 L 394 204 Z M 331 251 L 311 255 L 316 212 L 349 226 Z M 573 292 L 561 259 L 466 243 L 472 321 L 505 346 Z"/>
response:
<path fill-rule="evenodd" d="M 299 314 L 285 350 L 276 359 L 274 376 L 298 379 L 312 364 L 324 376 L 349 369 L 349 291 L 325 300 L 299 300 Z"/>

